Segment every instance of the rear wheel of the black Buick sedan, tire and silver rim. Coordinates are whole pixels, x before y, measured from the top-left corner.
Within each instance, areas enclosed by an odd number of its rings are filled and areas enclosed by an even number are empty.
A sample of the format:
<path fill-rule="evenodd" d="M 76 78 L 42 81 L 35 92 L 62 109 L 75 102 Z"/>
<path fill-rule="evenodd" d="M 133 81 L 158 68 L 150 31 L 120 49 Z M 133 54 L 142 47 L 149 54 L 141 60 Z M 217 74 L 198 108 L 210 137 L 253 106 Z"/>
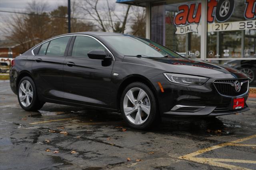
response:
<path fill-rule="evenodd" d="M 44 105 L 37 98 L 36 87 L 30 77 L 23 77 L 18 85 L 18 101 L 22 109 L 36 111 Z"/>

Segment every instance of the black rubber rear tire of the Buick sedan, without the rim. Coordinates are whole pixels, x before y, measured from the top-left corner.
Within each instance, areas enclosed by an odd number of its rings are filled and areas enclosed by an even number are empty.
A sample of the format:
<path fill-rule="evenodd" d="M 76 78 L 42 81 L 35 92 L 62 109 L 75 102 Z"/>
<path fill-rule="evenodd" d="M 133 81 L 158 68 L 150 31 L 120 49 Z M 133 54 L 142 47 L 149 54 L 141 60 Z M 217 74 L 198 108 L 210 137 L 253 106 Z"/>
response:
<path fill-rule="evenodd" d="M 28 105 L 28 107 L 25 107 L 24 105 L 22 105 L 22 103 L 20 101 L 20 97 L 19 97 L 20 85 L 25 80 L 29 81 L 29 83 L 31 84 L 31 87 L 32 87 L 32 91 L 33 91 L 33 98 L 32 98 L 32 101 L 31 101 L 30 105 Z M 30 77 L 23 77 L 20 80 L 20 82 L 18 84 L 17 93 L 18 93 L 18 101 L 20 103 L 20 107 L 22 107 L 22 109 L 24 109 L 25 111 L 37 111 L 38 109 L 41 109 L 43 107 L 43 105 L 44 105 L 44 102 L 39 101 L 39 99 L 37 97 L 35 83 L 34 83 L 34 81 Z"/>

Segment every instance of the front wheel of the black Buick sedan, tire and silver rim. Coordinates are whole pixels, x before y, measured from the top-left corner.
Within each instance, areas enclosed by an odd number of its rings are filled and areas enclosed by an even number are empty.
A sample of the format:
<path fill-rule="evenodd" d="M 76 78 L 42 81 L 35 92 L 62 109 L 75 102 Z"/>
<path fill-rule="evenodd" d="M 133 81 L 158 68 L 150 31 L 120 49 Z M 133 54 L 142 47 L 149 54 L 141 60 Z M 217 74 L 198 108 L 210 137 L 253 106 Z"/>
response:
<path fill-rule="evenodd" d="M 157 117 L 156 101 L 152 91 L 143 83 L 128 85 L 121 100 L 124 120 L 133 128 L 151 127 Z"/>

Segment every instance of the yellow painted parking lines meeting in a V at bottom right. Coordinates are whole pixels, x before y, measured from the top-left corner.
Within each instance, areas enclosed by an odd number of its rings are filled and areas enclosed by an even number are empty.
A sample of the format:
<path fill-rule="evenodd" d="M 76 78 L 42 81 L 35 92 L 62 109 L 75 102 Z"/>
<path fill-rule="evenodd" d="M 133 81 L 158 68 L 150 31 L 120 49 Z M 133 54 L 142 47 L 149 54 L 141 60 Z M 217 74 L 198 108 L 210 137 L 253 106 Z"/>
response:
<path fill-rule="evenodd" d="M 246 140 L 249 140 L 252 138 L 256 138 L 256 134 L 254 134 L 252 136 L 248 136 L 246 138 L 234 140 L 232 142 L 226 142 L 226 143 L 218 144 L 218 145 L 211 146 L 208 148 L 204 148 L 204 149 L 198 150 L 196 152 L 192 152 L 190 154 L 180 156 L 179 159 L 194 161 L 194 162 L 198 162 L 198 163 L 202 163 L 202 164 L 209 164 L 211 166 L 218 166 L 218 167 L 228 168 L 228 169 L 248 170 L 247 168 L 230 165 L 230 164 L 225 164 L 225 163 L 221 163 L 221 162 L 238 162 L 238 163 L 256 164 L 256 161 L 254 161 L 254 160 L 222 159 L 222 158 L 198 158 L 195 156 L 198 156 L 205 152 L 209 152 L 211 150 L 222 148 L 224 146 L 248 146 L 248 147 L 256 146 L 255 144 L 240 144 L 239 143 L 239 142 L 243 142 L 243 141 L 246 141 Z"/>

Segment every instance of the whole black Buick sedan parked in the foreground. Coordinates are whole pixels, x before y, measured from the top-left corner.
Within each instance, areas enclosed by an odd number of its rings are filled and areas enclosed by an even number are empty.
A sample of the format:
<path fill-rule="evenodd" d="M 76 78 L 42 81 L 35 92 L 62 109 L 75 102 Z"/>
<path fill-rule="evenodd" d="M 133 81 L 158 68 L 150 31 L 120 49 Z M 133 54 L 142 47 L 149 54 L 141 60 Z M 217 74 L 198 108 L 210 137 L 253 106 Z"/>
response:
<path fill-rule="evenodd" d="M 10 86 L 26 111 L 45 102 L 108 109 L 138 129 L 164 115 L 249 110 L 244 73 L 126 34 L 80 32 L 46 40 L 12 60 Z"/>

